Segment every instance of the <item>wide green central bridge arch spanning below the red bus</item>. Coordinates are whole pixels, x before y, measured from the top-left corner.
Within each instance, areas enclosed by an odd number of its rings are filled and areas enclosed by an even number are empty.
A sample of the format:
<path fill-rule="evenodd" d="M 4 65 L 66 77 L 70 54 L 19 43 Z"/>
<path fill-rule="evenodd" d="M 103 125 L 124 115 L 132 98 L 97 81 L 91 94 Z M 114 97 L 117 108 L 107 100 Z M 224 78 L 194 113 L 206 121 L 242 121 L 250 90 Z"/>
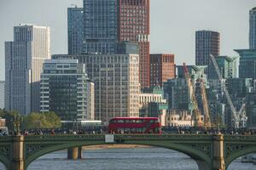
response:
<path fill-rule="evenodd" d="M 68 148 L 73 147 L 79 147 L 79 146 L 88 146 L 88 145 L 98 145 L 98 144 L 105 144 L 105 141 L 84 141 L 84 142 L 67 142 L 65 144 L 52 144 L 49 146 L 42 147 L 40 150 L 36 150 L 33 152 L 30 156 L 27 156 L 25 158 L 25 169 L 32 163 L 32 161 L 35 161 L 38 157 L 44 156 L 46 154 L 49 154 L 54 151 L 58 150 L 65 150 Z M 120 142 L 120 143 L 114 143 L 114 144 L 138 144 L 138 145 L 149 145 L 149 146 L 155 146 L 160 148 L 166 148 L 170 150 L 177 150 L 179 152 L 182 152 L 183 154 L 190 156 L 198 165 L 199 169 L 208 170 L 212 169 L 211 164 L 211 158 L 207 156 L 205 153 L 203 153 L 200 150 L 196 150 L 191 148 L 188 145 L 184 144 L 174 144 L 171 142 L 160 142 L 160 141 L 148 141 L 148 140 L 137 140 L 137 141 L 131 141 L 131 142 Z"/>

